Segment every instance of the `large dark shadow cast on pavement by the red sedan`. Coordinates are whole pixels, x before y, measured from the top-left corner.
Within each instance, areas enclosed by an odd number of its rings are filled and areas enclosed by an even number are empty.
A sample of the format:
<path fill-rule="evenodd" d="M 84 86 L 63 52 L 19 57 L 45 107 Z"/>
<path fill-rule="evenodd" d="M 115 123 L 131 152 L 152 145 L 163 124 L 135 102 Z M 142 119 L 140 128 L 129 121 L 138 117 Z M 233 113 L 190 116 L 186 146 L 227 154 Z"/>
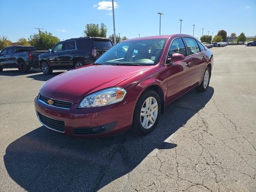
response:
<path fill-rule="evenodd" d="M 132 130 L 97 139 L 81 139 L 43 126 L 6 148 L 4 164 L 10 177 L 30 192 L 96 191 L 131 172 L 155 149 L 176 147 L 165 140 L 208 103 L 214 94 L 191 90 L 166 107 L 156 129 L 138 136 Z"/>

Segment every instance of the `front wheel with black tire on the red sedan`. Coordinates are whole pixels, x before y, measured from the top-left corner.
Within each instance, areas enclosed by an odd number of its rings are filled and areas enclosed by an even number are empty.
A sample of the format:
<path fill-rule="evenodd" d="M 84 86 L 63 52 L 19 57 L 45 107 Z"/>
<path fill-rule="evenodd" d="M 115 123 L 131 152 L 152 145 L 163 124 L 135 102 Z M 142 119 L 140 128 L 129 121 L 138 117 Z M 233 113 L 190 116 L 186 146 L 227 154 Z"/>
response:
<path fill-rule="evenodd" d="M 141 113 L 142 109 L 144 109 L 143 113 Z M 152 132 L 159 120 L 160 111 L 161 111 L 161 100 L 158 94 L 153 90 L 146 90 L 145 92 L 143 92 L 135 106 L 133 120 L 132 120 L 133 130 L 135 130 L 140 135 L 146 135 Z M 149 114 L 149 115 L 146 115 L 146 114 Z"/>

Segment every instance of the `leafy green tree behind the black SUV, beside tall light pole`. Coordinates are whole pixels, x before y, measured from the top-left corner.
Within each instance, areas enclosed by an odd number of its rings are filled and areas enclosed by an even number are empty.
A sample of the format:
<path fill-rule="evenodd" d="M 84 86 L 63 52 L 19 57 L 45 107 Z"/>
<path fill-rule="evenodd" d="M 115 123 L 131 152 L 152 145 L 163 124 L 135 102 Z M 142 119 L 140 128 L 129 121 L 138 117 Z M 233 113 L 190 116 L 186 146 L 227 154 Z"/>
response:
<path fill-rule="evenodd" d="M 84 36 L 85 37 L 107 37 L 107 27 L 104 23 L 100 24 L 95 24 L 95 23 L 90 23 L 86 24 L 85 30 L 84 30 Z"/>

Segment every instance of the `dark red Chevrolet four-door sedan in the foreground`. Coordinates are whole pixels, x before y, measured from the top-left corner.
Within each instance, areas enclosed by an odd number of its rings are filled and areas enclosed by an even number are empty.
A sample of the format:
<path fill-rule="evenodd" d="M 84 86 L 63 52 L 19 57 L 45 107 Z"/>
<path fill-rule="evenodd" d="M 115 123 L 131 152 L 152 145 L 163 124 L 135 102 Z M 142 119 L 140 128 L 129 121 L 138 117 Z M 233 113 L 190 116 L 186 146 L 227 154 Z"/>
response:
<path fill-rule="evenodd" d="M 48 80 L 35 98 L 40 122 L 72 136 L 148 134 L 165 106 L 189 90 L 206 91 L 213 54 L 186 34 L 122 41 L 93 64 Z"/>

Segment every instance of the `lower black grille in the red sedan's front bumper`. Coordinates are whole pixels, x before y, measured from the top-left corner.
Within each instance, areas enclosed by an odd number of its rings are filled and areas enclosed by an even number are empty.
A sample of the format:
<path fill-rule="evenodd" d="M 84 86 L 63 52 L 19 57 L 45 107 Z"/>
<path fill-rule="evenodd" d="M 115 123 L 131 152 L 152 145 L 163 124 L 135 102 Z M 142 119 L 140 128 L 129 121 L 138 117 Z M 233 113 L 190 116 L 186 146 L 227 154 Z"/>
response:
<path fill-rule="evenodd" d="M 62 133 L 65 132 L 65 121 L 44 116 L 40 114 L 38 111 L 36 112 L 36 114 L 40 122 L 47 128 L 58 131 L 58 132 L 62 132 Z"/>

